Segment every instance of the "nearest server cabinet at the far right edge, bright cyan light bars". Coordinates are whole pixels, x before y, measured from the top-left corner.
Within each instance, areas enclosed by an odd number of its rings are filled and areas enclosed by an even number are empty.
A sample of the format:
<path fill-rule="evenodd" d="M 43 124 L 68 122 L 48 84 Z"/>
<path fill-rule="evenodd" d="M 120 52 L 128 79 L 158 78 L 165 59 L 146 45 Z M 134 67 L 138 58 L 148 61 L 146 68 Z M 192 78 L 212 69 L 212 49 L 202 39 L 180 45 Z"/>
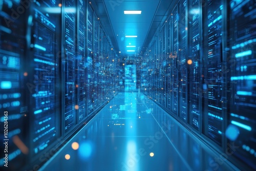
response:
<path fill-rule="evenodd" d="M 239 146 L 233 155 L 256 168 L 256 1 L 229 1 L 230 113 L 228 143 Z"/>

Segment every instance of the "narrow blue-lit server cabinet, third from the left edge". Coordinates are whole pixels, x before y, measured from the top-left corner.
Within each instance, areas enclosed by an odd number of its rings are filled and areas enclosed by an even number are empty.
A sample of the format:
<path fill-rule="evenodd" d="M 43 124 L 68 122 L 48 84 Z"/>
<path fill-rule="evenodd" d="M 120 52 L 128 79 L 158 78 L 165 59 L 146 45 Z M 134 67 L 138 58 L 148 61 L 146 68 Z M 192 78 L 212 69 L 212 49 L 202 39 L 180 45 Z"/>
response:
<path fill-rule="evenodd" d="M 65 58 L 63 58 L 63 68 L 65 74 L 62 76 L 65 84 L 65 96 L 63 102 L 65 104 L 65 133 L 70 131 L 72 127 L 76 124 L 76 91 L 75 91 L 75 19 L 76 15 L 73 12 L 69 12 L 68 9 L 76 8 L 74 0 L 65 1 L 65 6 L 63 7 L 65 26 L 63 29 L 64 43 L 64 52 Z M 67 9 L 67 10 L 66 10 Z M 77 106 L 76 106 L 77 108 Z"/>

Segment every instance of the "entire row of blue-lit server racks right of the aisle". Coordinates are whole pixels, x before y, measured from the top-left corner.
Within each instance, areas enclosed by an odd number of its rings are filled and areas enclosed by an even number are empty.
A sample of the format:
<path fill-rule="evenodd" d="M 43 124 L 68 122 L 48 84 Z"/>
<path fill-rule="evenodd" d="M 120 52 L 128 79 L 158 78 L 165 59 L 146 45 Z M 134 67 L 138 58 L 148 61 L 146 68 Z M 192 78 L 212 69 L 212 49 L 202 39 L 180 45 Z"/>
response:
<path fill-rule="evenodd" d="M 256 168 L 255 4 L 173 2 L 141 64 L 142 91 L 244 170 Z"/>

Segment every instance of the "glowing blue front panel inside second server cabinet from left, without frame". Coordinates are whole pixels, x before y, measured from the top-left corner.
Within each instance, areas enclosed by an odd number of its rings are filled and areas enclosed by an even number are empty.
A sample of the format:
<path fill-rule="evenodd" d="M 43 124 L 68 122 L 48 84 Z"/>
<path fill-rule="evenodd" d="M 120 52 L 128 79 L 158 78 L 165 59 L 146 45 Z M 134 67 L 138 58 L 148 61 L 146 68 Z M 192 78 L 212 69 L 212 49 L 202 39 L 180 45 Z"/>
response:
<path fill-rule="evenodd" d="M 38 7 L 54 7 L 56 1 L 38 1 Z M 33 153 L 43 151 L 56 139 L 56 18 L 52 14 L 34 9 L 33 75 L 35 89 L 30 105 L 33 113 Z"/>

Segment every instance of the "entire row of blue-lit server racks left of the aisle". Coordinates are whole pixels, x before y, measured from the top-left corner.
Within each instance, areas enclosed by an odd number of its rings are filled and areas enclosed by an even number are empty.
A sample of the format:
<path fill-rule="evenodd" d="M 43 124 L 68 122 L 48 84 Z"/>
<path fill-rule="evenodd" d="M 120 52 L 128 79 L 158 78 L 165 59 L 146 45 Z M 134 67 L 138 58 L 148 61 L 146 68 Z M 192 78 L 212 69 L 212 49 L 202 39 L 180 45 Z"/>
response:
<path fill-rule="evenodd" d="M 3 0 L 0 22 L 0 168 L 37 170 L 114 97 L 116 53 L 88 1 Z"/>

